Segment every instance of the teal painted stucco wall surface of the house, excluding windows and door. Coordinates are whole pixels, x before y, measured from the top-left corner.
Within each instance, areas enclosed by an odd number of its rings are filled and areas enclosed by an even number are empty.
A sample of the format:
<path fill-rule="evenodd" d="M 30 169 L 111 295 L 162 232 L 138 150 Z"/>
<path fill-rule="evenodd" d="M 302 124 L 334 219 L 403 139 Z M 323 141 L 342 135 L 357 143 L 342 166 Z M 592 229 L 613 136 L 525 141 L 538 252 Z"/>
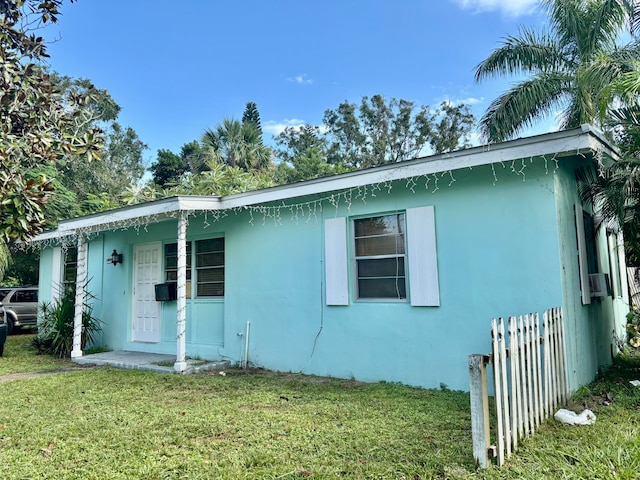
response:
<path fill-rule="evenodd" d="M 242 210 L 190 217 L 188 239 L 225 237 L 226 291 L 224 299 L 187 300 L 187 355 L 242 363 L 248 323 L 254 366 L 467 390 L 468 355 L 490 352 L 492 318 L 563 306 L 573 315 L 572 386 L 584 383 L 606 363 L 610 342 L 598 340 L 605 327 L 589 313 L 598 307 L 579 303 L 572 175 L 572 166 L 556 170 L 527 159 L 438 174 L 437 183 L 431 176 L 428 183 L 421 177 L 355 189 L 333 202 L 325 195 L 322 208 L 306 197 L 287 202 L 299 208 L 267 216 Z M 441 306 L 358 301 L 352 258 L 349 305 L 327 306 L 324 220 L 422 205 L 435 208 Z M 160 342 L 131 341 L 131 258 L 136 244 L 172 243 L 176 232 L 172 220 L 91 241 L 90 286 L 108 347 L 175 353 L 175 302 L 163 303 Z M 124 252 L 123 265 L 105 262 L 114 248 Z M 48 261 L 45 250 L 43 276 Z M 606 300 L 601 305 L 606 309 Z M 580 362 L 579 352 L 589 361 Z"/>

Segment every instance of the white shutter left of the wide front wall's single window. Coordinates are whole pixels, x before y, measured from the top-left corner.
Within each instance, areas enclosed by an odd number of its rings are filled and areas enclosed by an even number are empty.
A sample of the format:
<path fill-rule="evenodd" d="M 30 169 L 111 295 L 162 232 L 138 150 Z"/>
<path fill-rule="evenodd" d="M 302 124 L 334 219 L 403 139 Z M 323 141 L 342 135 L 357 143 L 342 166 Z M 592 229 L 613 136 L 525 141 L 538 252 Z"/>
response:
<path fill-rule="evenodd" d="M 347 219 L 324 221 L 324 265 L 327 305 L 349 305 Z"/>

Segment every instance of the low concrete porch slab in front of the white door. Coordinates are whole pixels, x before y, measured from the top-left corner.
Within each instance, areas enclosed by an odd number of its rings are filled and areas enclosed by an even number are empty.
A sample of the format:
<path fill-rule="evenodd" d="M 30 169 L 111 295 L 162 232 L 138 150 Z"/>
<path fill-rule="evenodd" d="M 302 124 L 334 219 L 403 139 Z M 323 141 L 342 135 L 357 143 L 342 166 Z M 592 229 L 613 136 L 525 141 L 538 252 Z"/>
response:
<path fill-rule="evenodd" d="M 72 359 L 80 365 L 108 365 L 116 368 L 150 370 L 158 373 L 176 373 L 173 363 L 175 355 L 160 353 L 130 352 L 116 350 L 112 352 L 92 353 Z M 187 369 L 181 373 L 198 373 L 206 370 L 224 370 L 229 368 L 227 361 L 208 361 L 187 359 Z"/>

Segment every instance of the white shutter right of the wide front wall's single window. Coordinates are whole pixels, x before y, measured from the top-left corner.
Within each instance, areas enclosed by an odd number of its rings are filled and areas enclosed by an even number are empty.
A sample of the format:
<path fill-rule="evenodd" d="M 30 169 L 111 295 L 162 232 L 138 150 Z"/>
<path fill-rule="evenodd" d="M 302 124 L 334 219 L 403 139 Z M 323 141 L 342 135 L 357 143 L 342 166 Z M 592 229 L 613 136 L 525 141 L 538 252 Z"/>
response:
<path fill-rule="evenodd" d="M 436 224 L 432 205 L 407 208 L 407 245 L 411 305 L 440 306 Z"/>

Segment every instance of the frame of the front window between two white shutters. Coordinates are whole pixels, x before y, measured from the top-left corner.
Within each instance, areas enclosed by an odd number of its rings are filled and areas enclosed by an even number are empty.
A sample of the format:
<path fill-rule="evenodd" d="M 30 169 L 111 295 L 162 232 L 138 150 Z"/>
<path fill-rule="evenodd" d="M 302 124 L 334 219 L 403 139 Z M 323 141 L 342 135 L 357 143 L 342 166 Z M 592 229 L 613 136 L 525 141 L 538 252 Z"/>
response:
<path fill-rule="evenodd" d="M 370 236 L 360 236 L 357 237 L 356 236 L 356 222 L 360 221 L 360 220 L 367 220 L 367 219 L 375 219 L 375 218 L 382 218 L 382 217 L 389 217 L 389 216 L 393 216 L 395 215 L 396 217 L 402 216 L 403 217 L 403 231 L 402 232 L 398 232 L 398 233 L 393 233 L 393 234 L 389 234 L 389 235 L 370 235 Z M 398 224 L 398 221 L 396 220 L 396 224 Z M 392 211 L 392 212 L 385 212 L 385 213 L 376 213 L 373 215 L 361 215 L 361 216 L 357 216 L 357 217 L 352 217 L 350 218 L 350 243 L 351 243 L 351 268 L 352 268 L 352 274 L 351 274 L 351 278 L 353 281 L 353 296 L 354 296 L 354 301 L 356 302 L 363 302 L 363 303 L 376 303 L 376 302 L 385 302 L 385 303 L 409 303 L 410 301 L 410 292 L 409 292 L 409 274 L 408 274 L 408 267 L 409 267 L 409 255 L 408 255 L 408 244 L 407 244 L 407 215 L 406 215 L 406 211 L 405 210 L 396 210 L 396 211 Z M 403 245 L 404 245 L 404 253 L 385 253 L 385 254 L 379 254 L 379 255 L 358 255 L 357 252 L 357 240 L 363 239 L 363 238 L 367 238 L 367 237 L 380 237 L 380 236 L 393 236 L 393 237 L 398 237 L 398 236 L 402 236 L 403 237 Z M 396 244 L 397 246 L 397 244 Z M 382 260 L 382 259 L 386 259 L 386 258 L 402 258 L 403 261 L 403 275 L 399 276 L 397 273 L 395 275 L 396 278 L 396 282 L 398 278 L 403 278 L 404 279 L 404 297 L 402 296 L 398 296 L 398 297 L 362 297 L 360 295 L 360 280 L 362 280 L 362 278 L 359 276 L 359 268 L 358 268 L 358 261 L 359 260 Z M 397 272 L 397 271 L 396 271 Z M 381 277 L 378 277 L 381 278 Z"/>

